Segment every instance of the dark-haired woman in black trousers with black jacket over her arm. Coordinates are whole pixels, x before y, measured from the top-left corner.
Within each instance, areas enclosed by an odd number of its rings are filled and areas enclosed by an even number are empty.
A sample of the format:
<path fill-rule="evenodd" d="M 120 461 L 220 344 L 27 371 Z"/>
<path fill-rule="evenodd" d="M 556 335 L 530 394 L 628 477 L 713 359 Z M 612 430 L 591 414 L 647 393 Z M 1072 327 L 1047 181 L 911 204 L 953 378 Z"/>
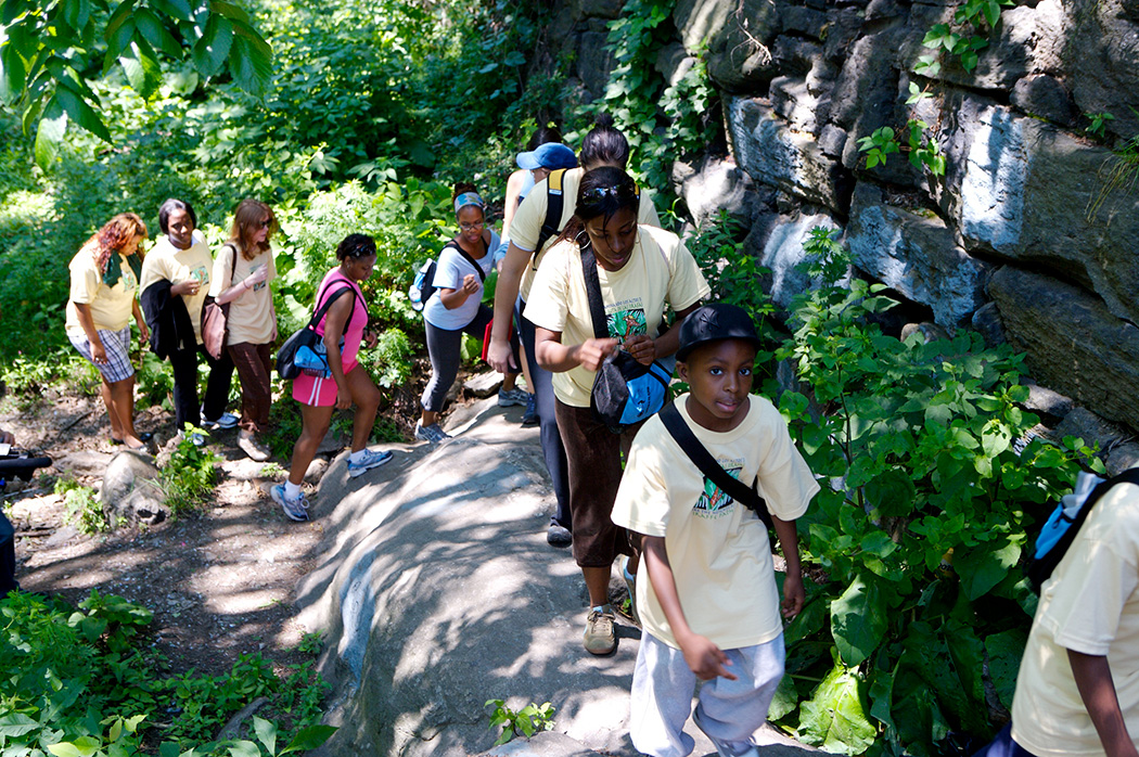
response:
<path fill-rule="evenodd" d="M 202 339 L 202 307 L 210 293 L 213 255 L 198 231 L 194 206 L 167 199 L 158 208 L 158 227 L 164 238 L 142 263 L 142 312 L 150 327 L 150 349 L 169 357 L 174 369 L 174 421 L 182 434 L 186 423 L 206 429 L 233 428 L 237 415 L 226 412 L 233 362 L 222 354 L 214 360 Z M 198 353 L 210 364 L 210 378 L 198 406 Z M 199 435 L 194 443 L 205 444 Z"/>

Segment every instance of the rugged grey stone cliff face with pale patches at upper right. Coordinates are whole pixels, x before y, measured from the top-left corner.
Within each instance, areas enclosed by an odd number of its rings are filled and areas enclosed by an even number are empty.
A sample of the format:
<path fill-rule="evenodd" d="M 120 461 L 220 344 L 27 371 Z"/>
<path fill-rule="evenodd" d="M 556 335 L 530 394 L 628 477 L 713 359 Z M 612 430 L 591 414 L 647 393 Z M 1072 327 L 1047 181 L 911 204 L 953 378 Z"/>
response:
<path fill-rule="evenodd" d="M 589 28 L 613 5 L 564 18 Z M 1041 384 L 1139 429 L 1139 141 L 1121 155 L 1139 138 L 1139 1 L 1018 1 L 991 26 L 954 20 L 965 6 L 677 0 L 661 69 L 704 56 L 730 146 L 678 166 L 678 191 L 698 221 L 746 222 L 777 302 L 804 286 L 789 266 L 810 229 L 842 229 L 858 272 L 911 312 L 1007 339 Z M 923 44 L 942 24 L 983 41 L 975 66 Z M 1098 114 L 1113 118 L 1090 133 Z M 943 175 L 910 164 L 904 135 L 867 167 L 859 140 L 910 120 Z"/>

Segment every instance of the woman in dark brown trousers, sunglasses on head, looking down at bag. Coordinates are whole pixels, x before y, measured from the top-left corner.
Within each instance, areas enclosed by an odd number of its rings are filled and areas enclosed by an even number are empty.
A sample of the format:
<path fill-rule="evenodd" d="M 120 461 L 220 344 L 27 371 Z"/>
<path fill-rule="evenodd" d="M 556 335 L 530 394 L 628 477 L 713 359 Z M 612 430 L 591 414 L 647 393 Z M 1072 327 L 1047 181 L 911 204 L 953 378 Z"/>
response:
<path fill-rule="evenodd" d="M 590 611 L 585 650 L 616 649 L 609 606 L 609 570 L 617 554 L 632 584 L 636 552 L 611 513 L 628 454 L 640 423 L 614 434 L 590 410 L 595 375 L 606 356 L 621 349 L 648 365 L 677 352 L 680 322 L 708 295 L 696 260 L 673 233 L 637 222 L 637 187 L 614 167 L 582 176 L 573 219 L 546 254 L 525 316 L 534 323 L 538 364 L 554 373 L 562 442 L 568 462 L 573 554 L 585 577 Z M 608 336 L 597 338 L 590 315 L 582 257 L 592 255 L 600 283 Z M 675 312 L 662 334 L 665 308 Z"/>

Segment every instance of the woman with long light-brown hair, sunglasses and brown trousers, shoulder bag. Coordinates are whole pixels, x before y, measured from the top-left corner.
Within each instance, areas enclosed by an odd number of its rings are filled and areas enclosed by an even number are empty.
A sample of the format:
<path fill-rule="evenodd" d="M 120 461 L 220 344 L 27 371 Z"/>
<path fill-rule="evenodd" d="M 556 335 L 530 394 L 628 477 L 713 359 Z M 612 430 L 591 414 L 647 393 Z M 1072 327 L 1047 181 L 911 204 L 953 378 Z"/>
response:
<path fill-rule="evenodd" d="M 218 250 L 210 296 L 229 305 L 226 352 L 241 379 L 241 420 L 237 446 L 259 462 L 269 450 L 257 439 L 269 426 L 272 403 L 271 377 L 277 313 L 269 283 L 277 264 L 269 238 L 277 230 L 272 209 L 255 199 L 244 199 L 233 212 L 229 240 Z"/>

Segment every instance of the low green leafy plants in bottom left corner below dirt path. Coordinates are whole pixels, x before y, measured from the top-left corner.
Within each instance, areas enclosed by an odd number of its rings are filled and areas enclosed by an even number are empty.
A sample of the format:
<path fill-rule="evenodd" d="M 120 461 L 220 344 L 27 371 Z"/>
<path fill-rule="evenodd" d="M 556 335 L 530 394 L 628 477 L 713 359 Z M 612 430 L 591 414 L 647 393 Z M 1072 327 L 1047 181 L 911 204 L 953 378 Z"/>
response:
<path fill-rule="evenodd" d="M 285 755 L 316 748 L 335 730 L 317 725 L 327 684 L 311 663 L 281 680 L 259 655 L 246 655 L 224 675 L 164 678 L 163 660 L 142 642 L 150 622 L 147 609 L 98 592 L 77 608 L 35 594 L 0 600 L 0 751 L 133 757 L 146 754 L 144 730 L 170 713 L 161 755 Z M 293 722 L 287 747 L 277 750 L 285 739 L 260 718 L 256 741 L 194 743 L 189 734 L 212 737 L 257 696 Z M 167 709 L 171 702 L 178 709 Z"/>

